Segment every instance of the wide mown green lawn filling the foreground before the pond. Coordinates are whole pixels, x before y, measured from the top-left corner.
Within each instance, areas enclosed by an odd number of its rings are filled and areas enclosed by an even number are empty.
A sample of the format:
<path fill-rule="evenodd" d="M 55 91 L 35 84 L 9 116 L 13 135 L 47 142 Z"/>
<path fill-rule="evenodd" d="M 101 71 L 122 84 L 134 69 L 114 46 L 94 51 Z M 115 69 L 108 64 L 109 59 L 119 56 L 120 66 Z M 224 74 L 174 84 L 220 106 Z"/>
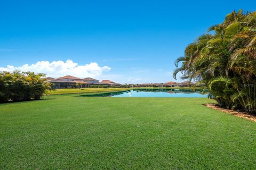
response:
<path fill-rule="evenodd" d="M 0 104 L 0 169 L 254 169 L 256 123 L 206 98 Z"/>

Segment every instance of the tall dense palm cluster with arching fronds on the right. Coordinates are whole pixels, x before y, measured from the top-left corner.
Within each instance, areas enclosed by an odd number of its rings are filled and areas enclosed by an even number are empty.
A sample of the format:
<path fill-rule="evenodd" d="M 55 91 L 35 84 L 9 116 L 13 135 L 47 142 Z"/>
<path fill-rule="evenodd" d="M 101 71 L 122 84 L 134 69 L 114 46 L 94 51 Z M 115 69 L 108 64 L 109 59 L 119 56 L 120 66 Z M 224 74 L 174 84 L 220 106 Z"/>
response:
<path fill-rule="evenodd" d="M 204 84 L 220 106 L 256 113 L 256 11 L 231 12 L 189 44 L 175 65 L 175 79 L 181 72 L 181 79 Z"/>

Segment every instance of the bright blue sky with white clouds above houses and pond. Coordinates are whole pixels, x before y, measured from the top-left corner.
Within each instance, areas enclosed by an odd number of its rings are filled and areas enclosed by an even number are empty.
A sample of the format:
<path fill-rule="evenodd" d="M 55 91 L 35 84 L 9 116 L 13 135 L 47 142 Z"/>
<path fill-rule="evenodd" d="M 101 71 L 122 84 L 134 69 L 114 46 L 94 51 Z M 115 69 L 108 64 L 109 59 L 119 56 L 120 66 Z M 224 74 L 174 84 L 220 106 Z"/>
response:
<path fill-rule="evenodd" d="M 38 66 L 52 77 L 173 81 L 175 58 L 239 8 L 255 11 L 256 2 L 1 1 L 0 69 L 38 72 Z"/>

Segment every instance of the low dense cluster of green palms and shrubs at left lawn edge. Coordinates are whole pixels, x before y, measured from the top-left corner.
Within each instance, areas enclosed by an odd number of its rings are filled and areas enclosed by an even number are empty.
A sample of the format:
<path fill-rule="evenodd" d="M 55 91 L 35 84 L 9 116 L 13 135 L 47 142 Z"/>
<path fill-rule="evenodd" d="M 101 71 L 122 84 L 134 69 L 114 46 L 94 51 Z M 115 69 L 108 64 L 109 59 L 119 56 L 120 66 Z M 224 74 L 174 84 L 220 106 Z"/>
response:
<path fill-rule="evenodd" d="M 0 103 L 40 99 L 47 89 L 45 74 L 33 72 L 0 72 Z"/>

